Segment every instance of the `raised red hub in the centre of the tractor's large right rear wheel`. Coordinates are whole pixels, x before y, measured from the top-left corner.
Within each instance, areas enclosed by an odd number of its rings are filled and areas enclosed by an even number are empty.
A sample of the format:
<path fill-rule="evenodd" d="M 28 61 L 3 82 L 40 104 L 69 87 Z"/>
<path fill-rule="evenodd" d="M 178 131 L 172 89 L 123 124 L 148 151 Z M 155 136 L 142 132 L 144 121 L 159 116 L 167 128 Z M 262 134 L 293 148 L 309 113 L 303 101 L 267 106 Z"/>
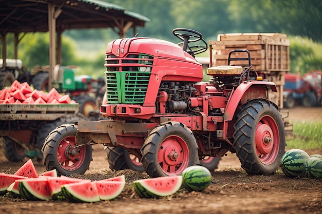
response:
<path fill-rule="evenodd" d="M 267 124 L 259 124 L 255 132 L 256 149 L 259 155 L 269 154 L 274 145 L 274 134 Z"/>

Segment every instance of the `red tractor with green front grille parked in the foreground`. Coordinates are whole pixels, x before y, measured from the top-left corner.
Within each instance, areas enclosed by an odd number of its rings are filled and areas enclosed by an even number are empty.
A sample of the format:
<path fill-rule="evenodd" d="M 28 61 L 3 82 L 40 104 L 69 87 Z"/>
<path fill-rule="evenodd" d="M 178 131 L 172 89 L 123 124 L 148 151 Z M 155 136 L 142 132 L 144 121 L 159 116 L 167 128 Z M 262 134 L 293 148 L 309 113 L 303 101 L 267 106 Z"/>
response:
<path fill-rule="evenodd" d="M 208 68 L 209 83 L 195 54 L 207 50 L 202 34 L 174 29 L 178 45 L 147 37 L 121 38 L 106 48 L 108 120 L 75 121 L 53 130 L 42 148 L 47 170 L 84 173 L 93 144 L 123 148 L 150 177 L 180 175 L 205 157 L 236 153 L 249 174 L 272 174 L 281 163 L 285 130 L 278 107 L 269 101 L 273 82 L 251 71 L 247 50 L 229 54 L 228 66 Z M 201 45 L 200 45 L 201 43 Z M 246 57 L 233 58 L 234 52 Z M 248 66 L 231 66 L 231 61 Z M 126 152 L 109 159 L 124 160 Z"/>

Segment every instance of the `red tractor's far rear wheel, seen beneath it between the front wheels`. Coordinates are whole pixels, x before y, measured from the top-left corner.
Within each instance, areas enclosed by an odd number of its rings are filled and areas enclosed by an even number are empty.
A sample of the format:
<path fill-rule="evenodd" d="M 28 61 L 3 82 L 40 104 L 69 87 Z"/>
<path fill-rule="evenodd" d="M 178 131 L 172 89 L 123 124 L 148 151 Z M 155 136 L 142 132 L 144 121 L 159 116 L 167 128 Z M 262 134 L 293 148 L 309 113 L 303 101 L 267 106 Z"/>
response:
<path fill-rule="evenodd" d="M 144 171 L 142 163 L 126 148 L 106 147 L 105 150 L 107 151 L 105 159 L 108 160 L 112 171 L 122 169 L 132 169 L 139 172 Z"/>

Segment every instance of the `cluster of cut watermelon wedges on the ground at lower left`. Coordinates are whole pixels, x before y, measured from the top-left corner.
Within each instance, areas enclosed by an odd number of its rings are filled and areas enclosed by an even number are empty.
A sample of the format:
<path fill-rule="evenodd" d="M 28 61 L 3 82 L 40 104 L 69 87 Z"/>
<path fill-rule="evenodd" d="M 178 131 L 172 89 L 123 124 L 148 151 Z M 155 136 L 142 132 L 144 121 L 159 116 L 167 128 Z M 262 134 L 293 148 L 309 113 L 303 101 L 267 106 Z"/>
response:
<path fill-rule="evenodd" d="M 27 200 L 62 200 L 70 202 L 99 202 L 119 196 L 126 184 L 125 176 L 91 181 L 58 177 L 56 169 L 38 174 L 29 159 L 14 174 L 0 173 L 0 195 L 7 192 Z"/>

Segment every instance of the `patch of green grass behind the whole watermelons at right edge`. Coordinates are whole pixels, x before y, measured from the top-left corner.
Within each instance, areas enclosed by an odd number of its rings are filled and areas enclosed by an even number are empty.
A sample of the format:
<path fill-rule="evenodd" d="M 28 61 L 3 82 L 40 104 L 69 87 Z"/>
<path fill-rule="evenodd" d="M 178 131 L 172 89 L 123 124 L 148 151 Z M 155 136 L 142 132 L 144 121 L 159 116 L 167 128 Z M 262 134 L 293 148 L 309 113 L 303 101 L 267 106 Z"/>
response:
<path fill-rule="evenodd" d="M 293 124 L 294 137 L 287 140 L 289 149 L 314 149 L 322 147 L 322 122 Z"/>

